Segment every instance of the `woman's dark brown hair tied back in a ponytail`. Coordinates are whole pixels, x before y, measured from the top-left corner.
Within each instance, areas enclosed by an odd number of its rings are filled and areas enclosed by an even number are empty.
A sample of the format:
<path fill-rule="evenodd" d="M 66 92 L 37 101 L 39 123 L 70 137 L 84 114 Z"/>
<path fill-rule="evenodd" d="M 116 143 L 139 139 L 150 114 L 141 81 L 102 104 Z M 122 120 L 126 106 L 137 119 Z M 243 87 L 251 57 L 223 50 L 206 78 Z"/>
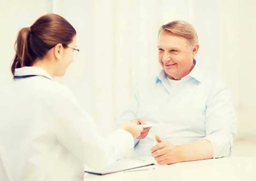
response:
<path fill-rule="evenodd" d="M 16 55 L 11 67 L 13 76 L 16 68 L 31 66 L 37 58 L 43 58 L 58 43 L 67 47 L 75 35 L 75 28 L 56 14 L 41 16 L 31 27 L 20 29 L 15 42 Z"/>

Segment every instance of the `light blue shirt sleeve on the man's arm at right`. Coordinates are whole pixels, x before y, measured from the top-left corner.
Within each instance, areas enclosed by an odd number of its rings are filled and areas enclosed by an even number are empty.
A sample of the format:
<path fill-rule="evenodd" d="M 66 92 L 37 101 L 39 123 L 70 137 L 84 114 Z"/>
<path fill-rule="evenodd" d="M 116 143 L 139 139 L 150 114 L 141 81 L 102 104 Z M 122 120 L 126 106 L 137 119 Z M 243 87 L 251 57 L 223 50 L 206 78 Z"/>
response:
<path fill-rule="evenodd" d="M 236 112 L 229 89 L 216 82 L 209 93 L 206 103 L 206 137 L 212 144 L 213 158 L 229 156 L 237 131 Z"/>

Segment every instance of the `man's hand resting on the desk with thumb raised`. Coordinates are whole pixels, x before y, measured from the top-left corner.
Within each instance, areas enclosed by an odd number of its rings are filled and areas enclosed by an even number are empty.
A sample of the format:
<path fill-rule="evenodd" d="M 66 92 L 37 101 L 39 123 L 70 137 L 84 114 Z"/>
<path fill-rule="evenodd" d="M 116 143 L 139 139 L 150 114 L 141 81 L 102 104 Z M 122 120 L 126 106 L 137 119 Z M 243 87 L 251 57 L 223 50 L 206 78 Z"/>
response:
<path fill-rule="evenodd" d="M 155 135 L 157 144 L 151 148 L 151 155 L 161 165 L 180 162 L 178 147 L 169 141 L 162 141 L 159 135 Z"/>

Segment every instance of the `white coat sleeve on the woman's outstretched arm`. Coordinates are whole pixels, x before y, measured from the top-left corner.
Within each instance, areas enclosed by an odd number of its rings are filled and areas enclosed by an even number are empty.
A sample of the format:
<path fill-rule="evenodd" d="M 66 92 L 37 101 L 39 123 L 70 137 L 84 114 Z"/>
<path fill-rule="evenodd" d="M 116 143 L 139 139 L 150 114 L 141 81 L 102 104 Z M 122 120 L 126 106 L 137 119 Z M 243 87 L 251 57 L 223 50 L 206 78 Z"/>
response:
<path fill-rule="evenodd" d="M 67 88 L 55 97 L 53 131 L 59 142 L 84 164 L 102 170 L 132 149 L 133 137 L 128 131 L 117 129 L 103 138 Z"/>

